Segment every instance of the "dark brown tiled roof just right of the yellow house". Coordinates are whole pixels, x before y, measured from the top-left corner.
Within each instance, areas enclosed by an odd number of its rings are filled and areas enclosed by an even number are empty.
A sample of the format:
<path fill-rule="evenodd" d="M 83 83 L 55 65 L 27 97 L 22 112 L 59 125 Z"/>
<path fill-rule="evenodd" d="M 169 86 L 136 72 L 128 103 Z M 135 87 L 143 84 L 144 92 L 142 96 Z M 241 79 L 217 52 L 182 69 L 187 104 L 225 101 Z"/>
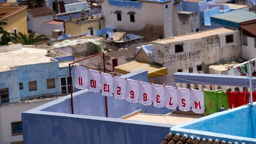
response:
<path fill-rule="evenodd" d="M 38 16 L 49 16 L 52 14 L 56 14 L 56 12 L 47 6 L 40 6 L 36 8 L 28 8 L 28 13 L 32 15 L 32 17 L 38 17 Z"/>

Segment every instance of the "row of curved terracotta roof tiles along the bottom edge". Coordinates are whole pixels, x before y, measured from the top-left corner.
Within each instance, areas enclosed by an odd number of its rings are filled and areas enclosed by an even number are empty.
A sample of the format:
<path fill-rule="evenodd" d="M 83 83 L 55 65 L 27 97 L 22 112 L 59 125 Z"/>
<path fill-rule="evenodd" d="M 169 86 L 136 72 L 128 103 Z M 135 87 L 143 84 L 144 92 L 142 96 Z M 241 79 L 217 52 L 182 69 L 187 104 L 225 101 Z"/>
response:
<path fill-rule="evenodd" d="M 180 134 L 172 134 L 169 133 L 161 142 L 161 144 L 237 144 L 237 142 L 228 142 L 225 141 L 220 142 L 219 140 L 212 140 L 212 139 L 200 139 L 191 136 L 188 138 L 186 134 L 180 136 Z"/>

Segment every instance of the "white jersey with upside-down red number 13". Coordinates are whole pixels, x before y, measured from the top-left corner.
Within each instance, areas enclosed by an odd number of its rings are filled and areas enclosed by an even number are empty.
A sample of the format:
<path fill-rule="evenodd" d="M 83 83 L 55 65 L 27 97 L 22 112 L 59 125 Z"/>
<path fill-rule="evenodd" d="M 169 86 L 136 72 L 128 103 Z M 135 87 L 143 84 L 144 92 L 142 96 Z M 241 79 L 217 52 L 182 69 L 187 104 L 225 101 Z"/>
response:
<path fill-rule="evenodd" d="M 113 76 L 100 73 L 100 86 L 102 96 L 113 96 Z"/>

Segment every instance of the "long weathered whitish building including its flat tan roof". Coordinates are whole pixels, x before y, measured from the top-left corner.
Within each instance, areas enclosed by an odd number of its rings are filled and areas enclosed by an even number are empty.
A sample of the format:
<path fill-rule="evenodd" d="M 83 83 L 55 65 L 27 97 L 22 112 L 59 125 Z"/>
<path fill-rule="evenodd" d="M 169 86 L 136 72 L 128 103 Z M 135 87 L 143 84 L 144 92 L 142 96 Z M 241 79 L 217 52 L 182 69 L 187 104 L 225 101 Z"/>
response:
<path fill-rule="evenodd" d="M 208 73 L 208 66 L 241 58 L 239 30 L 218 28 L 152 42 L 154 62 L 175 72 Z"/>

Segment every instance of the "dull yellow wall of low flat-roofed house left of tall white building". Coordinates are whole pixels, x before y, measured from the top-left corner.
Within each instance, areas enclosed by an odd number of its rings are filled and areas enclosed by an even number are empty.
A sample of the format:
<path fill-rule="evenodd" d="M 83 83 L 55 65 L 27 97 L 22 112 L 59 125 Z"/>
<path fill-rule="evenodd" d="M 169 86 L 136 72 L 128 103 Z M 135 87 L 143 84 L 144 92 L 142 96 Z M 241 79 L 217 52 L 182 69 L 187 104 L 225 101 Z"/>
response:
<path fill-rule="evenodd" d="M 99 30 L 100 28 L 105 28 L 104 19 L 96 19 L 92 21 L 86 21 L 86 22 L 71 22 L 71 21 L 65 21 L 65 33 L 70 35 L 76 35 L 80 36 L 81 34 L 84 34 L 88 32 L 88 28 L 96 28 L 96 30 Z"/>

